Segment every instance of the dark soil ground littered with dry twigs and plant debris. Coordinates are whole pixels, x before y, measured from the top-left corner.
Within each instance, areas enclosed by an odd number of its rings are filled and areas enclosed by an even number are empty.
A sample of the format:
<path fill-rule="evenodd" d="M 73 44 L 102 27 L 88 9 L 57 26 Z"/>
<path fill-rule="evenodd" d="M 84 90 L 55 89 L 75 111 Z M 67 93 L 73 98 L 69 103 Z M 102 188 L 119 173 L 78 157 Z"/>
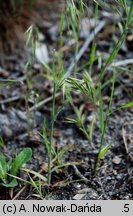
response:
<path fill-rule="evenodd" d="M 90 6 L 90 17 L 93 23 L 93 7 Z M 108 19 L 104 16 L 105 11 L 100 11 L 100 19 Z M 54 12 L 53 12 L 54 13 Z M 113 12 L 108 12 L 110 13 Z M 87 22 L 88 17 L 82 18 L 82 23 Z M 96 37 L 97 53 L 107 56 L 118 40 L 118 28 L 112 22 L 106 25 Z M 43 26 L 40 28 L 41 44 L 46 44 L 48 54 L 51 50 L 58 49 L 59 46 L 59 19 L 56 23 L 50 23 L 49 26 L 42 20 Z M 87 28 L 87 25 L 85 28 Z M 92 24 L 93 25 L 93 24 Z M 84 28 L 84 26 L 82 27 Z M 92 30 L 90 25 L 88 31 Z M 114 32 L 112 29 L 114 28 Z M 110 31 L 111 29 L 111 31 Z M 82 34 L 81 34 L 82 33 Z M 87 32 L 88 33 L 88 32 Z M 79 46 L 82 46 L 86 32 L 80 31 Z M 132 36 L 132 40 L 131 40 Z M 67 29 L 64 31 L 63 59 L 67 69 L 73 56 L 73 46 L 68 45 Z M 133 58 L 133 35 L 128 35 L 127 41 L 121 47 L 117 56 L 117 61 Z M 85 51 L 78 66 L 86 63 L 90 54 L 90 47 Z M 29 48 L 26 53 L 18 48 L 11 56 L 6 56 L 4 65 L 0 67 L 0 77 L 3 79 L 15 79 L 22 81 L 0 89 L 0 135 L 5 142 L 4 152 L 7 159 L 16 155 L 24 147 L 31 147 L 33 157 L 26 167 L 39 172 L 47 177 L 47 153 L 43 140 L 38 135 L 42 132 L 44 117 L 50 125 L 51 100 L 34 109 L 27 116 L 27 103 L 30 108 L 39 101 L 50 98 L 53 90 L 53 83 L 46 77 L 46 70 L 37 61 L 34 60 L 30 71 L 25 69 L 25 64 L 31 55 Z M 51 57 L 49 57 L 51 61 Z M 133 100 L 133 64 L 124 66 L 124 73 L 120 73 L 115 83 L 115 93 L 113 97 L 113 109 Z M 86 70 L 88 68 L 86 67 Z M 121 68 L 116 68 L 117 72 Z M 130 72 L 128 72 L 130 71 Z M 92 68 L 92 78 L 95 80 L 100 72 L 98 62 Z M 82 73 L 82 70 L 79 71 Z M 110 79 L 112 70 L 109 69 L 104 77 L 104 81 Z M 28 84 L 27 84 L 28 83 Z M 111 92 L 111 85 L 108 85 L 103 92 L 104 111 L 106 113 Z M 28 98 L 28 102 L 26 102 Z M 79 107 L 84 105 L 86 116 L 86 128 L 90 130 L 91 120 L 95 111 L 91 101 L 83 98 L 82 95 L 73 92 L 74 104 Z M 62 94 L 56 98 L 56 106 L 63 103 Z M 55 129 L 53 146 L 55 149 L 60 147 L 62 152 L 62 164 L 69 163 L 61 169 L 55 169 L 52 173 L 52 184 L 50 187 L 42 186 L 42 195 L 45 199 L 133 199 L 133 108 L 121 109 L 114 112 L 108 121 L 105 134 L 105 144 L 111 147 L 105 157 L 101 160 L 99 170 L 94 173 L 94 167 L 97 159 L 98 149 L 101 140 L 99 130 L 99 120 L 97 119 L 93 129 L 93 145 L 84 137 L 78 126 L 67 123 L 66 117 L 75 117 L 70 105 L 66 105 L 59 114 Z M 49 128 L 48 128 L 49 134 Z M 127 149 L 128 148 L 128 149 Z M 127 151 L 128 150 L 128 151 Z M 57 164 L 53 160 L 53 167 Z M 28 179 L 23 171 L 20 172 L 22 179 Z M 23 188 L 23 191 L 18 194 Z M 17 195 L 17 197 L 15 197 Z M 12 198 L 16 199 L 39 199 L 37 191 L 27 186 L 24 188 L 22 182 L 13 191 Z M 1 188 L 0 199 L 11 199 L 11 191 Z"/>

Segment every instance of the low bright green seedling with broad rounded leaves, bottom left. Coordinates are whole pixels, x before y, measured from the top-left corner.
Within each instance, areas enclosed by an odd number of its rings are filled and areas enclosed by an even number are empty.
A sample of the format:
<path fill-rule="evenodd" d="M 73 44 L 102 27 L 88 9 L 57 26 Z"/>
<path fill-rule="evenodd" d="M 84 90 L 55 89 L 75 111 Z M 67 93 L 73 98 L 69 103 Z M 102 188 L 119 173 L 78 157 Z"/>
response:
<path fill-rule="evenodd" d="M 18 182 L 15 178 L 20 168 L 30 160 L 32 157 L 32 150 L 25 148 L 16 158 L 11 161 L 6 161 L 3 154 L 0 155 L 0 185 L 4 187 L 15 187 Z"/>

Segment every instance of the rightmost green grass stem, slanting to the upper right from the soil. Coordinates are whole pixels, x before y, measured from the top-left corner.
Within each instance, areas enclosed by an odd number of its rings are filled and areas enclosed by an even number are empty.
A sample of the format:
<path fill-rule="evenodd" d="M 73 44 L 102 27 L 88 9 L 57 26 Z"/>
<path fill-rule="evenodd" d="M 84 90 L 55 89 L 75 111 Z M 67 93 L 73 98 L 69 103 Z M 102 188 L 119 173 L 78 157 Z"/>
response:
<path fill-rule="evenodd" d="M 113 49 L 111 55 L 109 56 L 109 58 L 107 59 L 106 63 L 105 63 L 105 66 L 103 67 L 103 70 L 101 71 L 101 74 L 100 74 L 100 77 L 99 77 L 99 80 L 101 81 L 103 76 L 105 75 L 105 72 L 106 72 L 106 69 L 107 69 L 107 66 L 109 64 L 111 64 L 111 62 L 116 58 L 123 42 L 125 41 L 126 39 L 126 36 L 127 36 L 127 33 L 130 29 L 130 25 L 132 23 L 132 19 L 133 19 L 133 3 L 131 4 L 131 7 L 128 9 L 127 8 L 127 2 L 125 2 L 125 7 L 126 7 L 126 11 L 127 11 L 127 18 L 126 18 L 126 22 L 125 22 L 125 27 L 124 27 L 124 30 L 120 36 L 120 39 L 118 40 L 117 44 L 116 44 L 116 47 Z M 104 136 L 105 136 L 105 131 L 106 131 L 106 127 L 107 127 L 107 122 L 108 122 L 108 118 L 111 114 L 111 105 L 112 105 L 112 101 L 113 101 L 113 94 L 114 94 L 114 90 L 115 90 L 115 79 L 116 79 L 116 75 L 114 73 L 113 77 L 112 77 L 112 88 L 111 88 L 111 96 L 110 96 L 110 102 L 109 102 L 109 105 L 108 105 L 108 109 L 107 109 L 107 112 L 106 112 L 106 117 L 104 119 L 103 117 L 103 104 L 102 104 L 102 95 L 101 95 L 101 86 L 98 87 L 99 89 L 99 104 L 100 104 L 100 131 L 101 131 L 101 142 L 100 142 L 100 148 L 99 148 L 99 152 L 98 152 L 98 157 L 97 157 L 97 161 L 96 161 L 96 166 L 95 166 L 95 170 L 98 169 L 98 166 L 99 166 L 99 162 L 101 160 L 101 158 L 104 157 L 104 155 L 106 154 L 106 152 L 109 150 L 110 148 L 110 145 L 107 145 L 105 147 L 103 147 L 104 145 Z M 99 85 L 99 84 L 98 84 Z M 133 105 L 132 102 L 129 102 L 128 104 L 125 104 L 119 108 L 117 108 L 116 110 L 119 110 L 119 109 L 122 109 L 122 108 L 128 108 L 128 107 L 131 107 Z"/>

